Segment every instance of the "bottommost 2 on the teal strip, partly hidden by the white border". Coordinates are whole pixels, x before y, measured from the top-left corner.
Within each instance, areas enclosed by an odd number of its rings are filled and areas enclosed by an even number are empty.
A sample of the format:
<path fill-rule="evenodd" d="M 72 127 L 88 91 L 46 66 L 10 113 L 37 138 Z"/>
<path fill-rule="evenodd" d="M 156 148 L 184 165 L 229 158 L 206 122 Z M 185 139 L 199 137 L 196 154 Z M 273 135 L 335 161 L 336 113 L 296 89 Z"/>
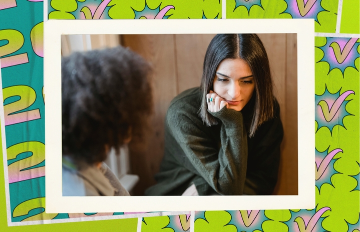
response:
<path fill-rule="evenodd" d="M 32 220 L 50 220 L 56 217 L 59 213 L 46 213 L 45 212 L 45 197 L 38 197 L 30 199 L 18 204 L 13 211 L 13 217 L 24 216 L 29 214 L 30 210 L 35 208 L 43 208 L 43 212 L 29 216 L 22 221 L 32 221 Z"/>

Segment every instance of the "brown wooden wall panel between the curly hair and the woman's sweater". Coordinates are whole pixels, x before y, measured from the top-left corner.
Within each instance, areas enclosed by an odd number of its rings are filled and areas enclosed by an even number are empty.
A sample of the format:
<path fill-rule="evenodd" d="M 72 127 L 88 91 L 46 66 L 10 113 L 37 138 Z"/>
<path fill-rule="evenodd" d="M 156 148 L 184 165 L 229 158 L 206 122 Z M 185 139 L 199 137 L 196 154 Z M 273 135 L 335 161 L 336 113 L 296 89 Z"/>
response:
<path fill-rule="evenodd" d="M 134 138 L 129 144 L 132 173 L 140 176 L 135 195 L 155 183 L 164 150 L 164 118 L 170 101 L 177 95 L 173 35 L 124 35 L 122 44 L 142 55 L 153 66 L 154 113 L 145 140 Z M 146 100 L 146 99 L 144 99 Z"/>

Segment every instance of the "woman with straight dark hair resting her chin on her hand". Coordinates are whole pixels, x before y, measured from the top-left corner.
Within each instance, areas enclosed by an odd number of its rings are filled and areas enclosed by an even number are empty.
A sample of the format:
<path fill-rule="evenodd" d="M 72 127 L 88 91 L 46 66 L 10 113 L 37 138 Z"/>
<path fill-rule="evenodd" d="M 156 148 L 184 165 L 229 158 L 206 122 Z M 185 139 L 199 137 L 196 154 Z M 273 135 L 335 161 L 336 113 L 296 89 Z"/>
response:
<path fill-rule="evenodd" d="M 146 194 L 272 194 L 283 137 L 272 85 L 256 34 L 217 34 L 201 86 L 170 103 L 158 183 Z"/>

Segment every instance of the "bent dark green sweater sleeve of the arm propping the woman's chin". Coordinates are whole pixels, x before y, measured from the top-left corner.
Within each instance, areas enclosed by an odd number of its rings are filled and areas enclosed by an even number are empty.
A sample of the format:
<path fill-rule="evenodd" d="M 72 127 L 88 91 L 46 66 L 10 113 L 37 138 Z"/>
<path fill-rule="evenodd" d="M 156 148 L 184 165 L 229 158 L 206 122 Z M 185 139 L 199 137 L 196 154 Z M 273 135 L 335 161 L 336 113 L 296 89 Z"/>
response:
<path fill-rule="evenodd" d="M 219 194 L 241 195 L 247 165 L 247 137 L 242 114 L 226 107 L 210 113 L 222 122 L 220 148 L 218 139 L 209 133 L 211 127 L 204 125 L 196 113 L 169 109 L 167 126 L 190 162 L 184 163 L 187 168 L 194 169 Z"/>

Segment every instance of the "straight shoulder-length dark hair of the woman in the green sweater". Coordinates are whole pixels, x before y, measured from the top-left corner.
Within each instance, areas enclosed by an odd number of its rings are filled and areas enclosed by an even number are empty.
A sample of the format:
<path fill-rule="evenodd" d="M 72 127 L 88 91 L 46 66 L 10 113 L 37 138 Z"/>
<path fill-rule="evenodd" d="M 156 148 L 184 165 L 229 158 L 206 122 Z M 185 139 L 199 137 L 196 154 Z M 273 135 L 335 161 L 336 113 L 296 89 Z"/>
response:
<path fill-rule="evenodd" d="M 273 117 L 274 96 L 269 60 L 265 48 L 256 34 L 217 34 L 211 40 L 205 54 L 200 89 L 202 102 L 199 114 L 211 126 L 217 120 L 207 111 L 206 94 L 213 90 L 215 72 L 224 59 L 241 58 L 250 66 L 254 76 L 254 107 L 248 135 L 252 137 L 256 128 Z"/>

